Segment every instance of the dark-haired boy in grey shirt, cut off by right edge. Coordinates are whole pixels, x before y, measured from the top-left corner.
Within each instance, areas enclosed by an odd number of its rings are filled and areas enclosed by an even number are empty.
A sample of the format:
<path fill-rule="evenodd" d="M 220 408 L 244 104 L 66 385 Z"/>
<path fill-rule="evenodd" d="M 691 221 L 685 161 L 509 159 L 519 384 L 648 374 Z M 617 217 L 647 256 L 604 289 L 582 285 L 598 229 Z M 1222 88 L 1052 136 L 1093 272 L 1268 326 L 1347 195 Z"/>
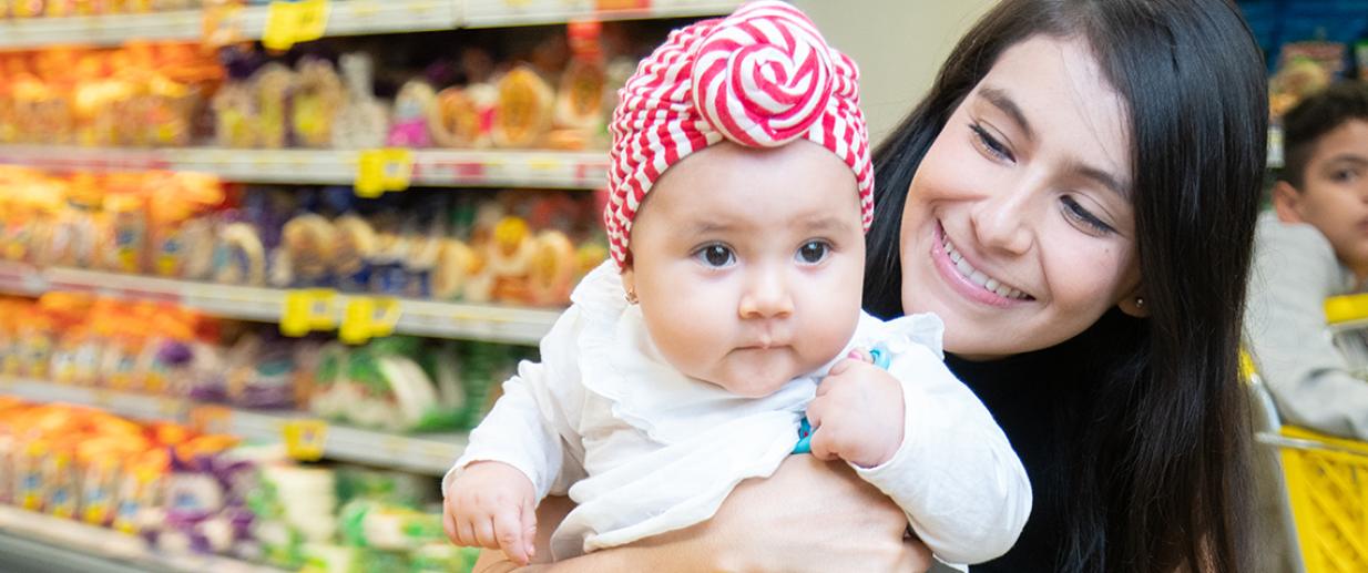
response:
<path fill-rule="evenodd" d="M 1368 440 L 1368 382 L 1326 330 L 1326 298 L 1368 279 L 1368 85 L 1343 82 L 1283 118 L 1285 167 L 1259 219 L 1246 330 L 1283 421 Z"/>

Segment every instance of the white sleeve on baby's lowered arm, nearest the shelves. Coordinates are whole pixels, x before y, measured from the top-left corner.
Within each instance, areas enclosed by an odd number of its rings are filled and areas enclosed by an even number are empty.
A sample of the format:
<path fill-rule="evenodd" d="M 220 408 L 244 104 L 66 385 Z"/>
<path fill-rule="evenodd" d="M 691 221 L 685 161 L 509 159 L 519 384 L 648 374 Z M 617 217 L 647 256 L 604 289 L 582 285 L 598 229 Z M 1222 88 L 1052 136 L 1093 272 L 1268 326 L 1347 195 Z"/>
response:
<path fill-rule="evenodd" d="M 572 306 L 542 341 L 542 362 L 523 361 L 517 376 L 503 383 L 503 395 L 471 431 L 465 453 L 442 479 L 443 496 L 461 470 L 477 461 L 517 468 L 532 480 L 538 499 L 564 494 L 584 477 L 583 446 L 575 429 L 579 413 L 568 412 L 565 403 L 580 391 L 573 354 L 581 327 L 577 319 L 579 309 Z"/>

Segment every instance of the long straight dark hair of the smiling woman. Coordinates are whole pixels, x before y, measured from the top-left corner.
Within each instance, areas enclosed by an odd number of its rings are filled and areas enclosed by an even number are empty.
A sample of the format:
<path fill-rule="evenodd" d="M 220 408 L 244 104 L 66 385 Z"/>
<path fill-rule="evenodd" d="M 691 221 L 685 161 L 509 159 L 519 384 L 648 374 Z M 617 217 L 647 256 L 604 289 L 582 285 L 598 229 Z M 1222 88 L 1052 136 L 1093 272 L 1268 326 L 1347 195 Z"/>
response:
<path fill-rule="evenodd" d="M 1263 56 L 1231 1 L 1004 0 L 874 152 L 865 308 L 900 316 L 908 185 L 956 105 L 1008 46 L 1088 41 L 1131 126 L 1149 317 L 1090 328 L 1096 387 L 1068 455 L 1070 572 L 1233 572 L 1248 555 L 1249 438 L 1238 350 L 1265 161 Z M 1103 320 L 1111 320 L 1111 315 Z M 1118 315 L 1119 316 L 1119 315 Z"/>

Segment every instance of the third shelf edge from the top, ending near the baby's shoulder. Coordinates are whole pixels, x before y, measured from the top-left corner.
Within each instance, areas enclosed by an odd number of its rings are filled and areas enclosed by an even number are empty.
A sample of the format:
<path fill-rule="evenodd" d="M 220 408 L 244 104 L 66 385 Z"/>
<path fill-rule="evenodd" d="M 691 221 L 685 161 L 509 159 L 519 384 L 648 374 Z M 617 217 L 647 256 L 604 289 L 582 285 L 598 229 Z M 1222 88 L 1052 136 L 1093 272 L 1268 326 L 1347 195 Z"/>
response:
<path fill-rule="evenodd" d="M 36 268 L 0 261 L 0 293 L 40 295 L 55 291 L 93 293 L 131 301 L 176 302 L 220 319 L 276 323 L 285 316 L 291 290 L 259 289 L 75 268 Z M 383 298 L 338 293 L 332 323 L 342 324 L 352 301 Z M 397 299 L 394 331 L 419 336 L 536 345 L 555 324 L 557 309 L 465 305 L 456 302 Z"/>

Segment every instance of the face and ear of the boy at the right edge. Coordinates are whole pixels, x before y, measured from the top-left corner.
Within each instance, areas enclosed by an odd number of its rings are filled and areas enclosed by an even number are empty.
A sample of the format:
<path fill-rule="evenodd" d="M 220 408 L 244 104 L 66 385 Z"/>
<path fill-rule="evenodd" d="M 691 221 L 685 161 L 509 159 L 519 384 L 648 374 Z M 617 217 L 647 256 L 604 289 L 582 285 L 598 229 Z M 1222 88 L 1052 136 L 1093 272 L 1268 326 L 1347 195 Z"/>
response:
<path fill-rule="evenodd" d="M 1321 137 L 1302 189 L 1278 182 L 1274 206 L 1285 223 L 1320 230 L 1358 282 L 1368 278 L 1368 122 L 1350 119 Z"/>

